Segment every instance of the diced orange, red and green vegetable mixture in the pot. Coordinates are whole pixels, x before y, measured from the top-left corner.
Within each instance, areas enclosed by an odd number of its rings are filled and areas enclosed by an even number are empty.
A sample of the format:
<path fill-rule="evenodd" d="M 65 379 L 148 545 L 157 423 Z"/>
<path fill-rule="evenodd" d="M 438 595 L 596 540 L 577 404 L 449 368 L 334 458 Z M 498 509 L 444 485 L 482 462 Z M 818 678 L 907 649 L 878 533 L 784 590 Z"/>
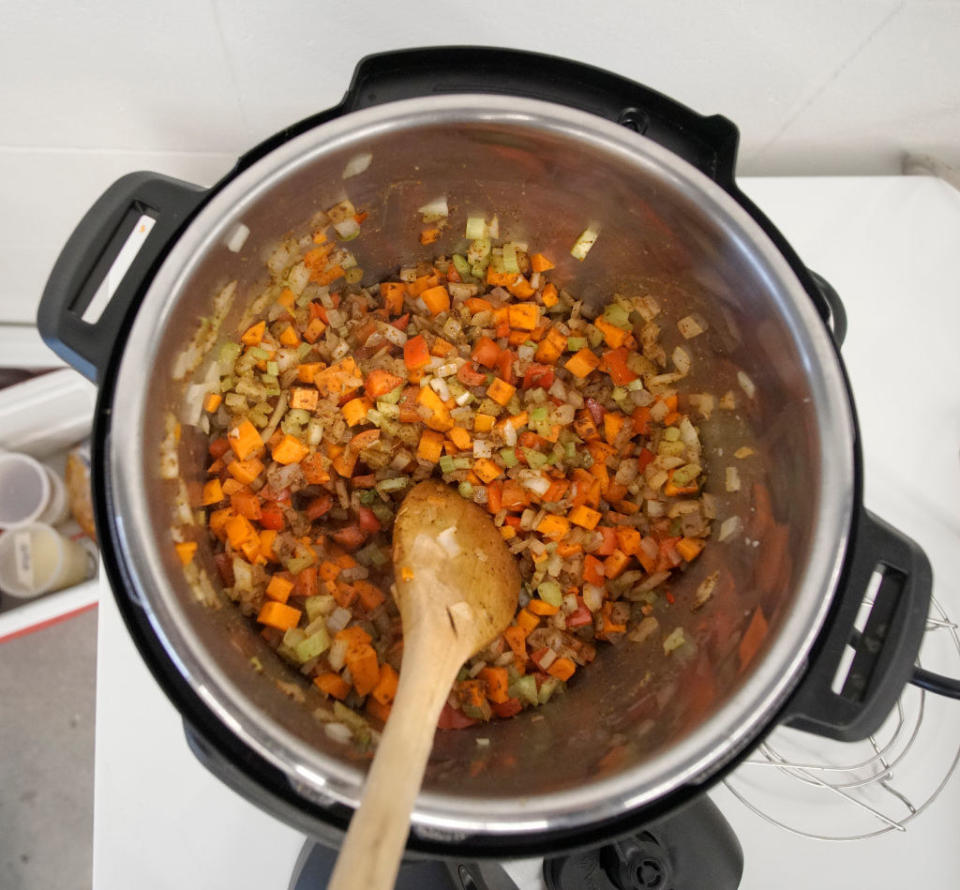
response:
<path fill-rule="evenodd" d="M 429 244 L 446 202 L 422 212 Z M 220 351 L 203 403 L 217 566 L 324 696 L 385 720 L 403 652 L 392 523 L 411 485 L 440 477 L 490 512 L 523 579 L 440 727 L 511 717 L 562 691 L 598 643 L 650 637 L 655 591 L 702 551 L 713 513 L 678 391 L 691 358 L 668 358 L 654 298 L 614 295 L 591 317 L 547 256 L 475 217 L 463 254 L 362 287 L 336 239 L 363 219 L 345 201 L 283 245 L 259 317 Z M 704 327 L 678 325 L 688 339 Z M 683 642 L 678 627 L 663 646 Z"/>

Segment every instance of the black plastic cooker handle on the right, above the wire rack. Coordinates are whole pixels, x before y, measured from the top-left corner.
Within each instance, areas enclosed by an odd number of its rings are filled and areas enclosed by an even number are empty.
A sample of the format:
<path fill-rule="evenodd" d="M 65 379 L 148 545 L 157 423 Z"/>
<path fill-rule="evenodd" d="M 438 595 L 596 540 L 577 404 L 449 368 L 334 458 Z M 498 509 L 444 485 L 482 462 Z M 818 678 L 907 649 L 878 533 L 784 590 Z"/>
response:
<path fill-rule="evenodd" d="M 783 722 L 848 742 L 876 732 L 913 673 L 932 587 L 920 547 L 863 510 L 846 579 Z"/>

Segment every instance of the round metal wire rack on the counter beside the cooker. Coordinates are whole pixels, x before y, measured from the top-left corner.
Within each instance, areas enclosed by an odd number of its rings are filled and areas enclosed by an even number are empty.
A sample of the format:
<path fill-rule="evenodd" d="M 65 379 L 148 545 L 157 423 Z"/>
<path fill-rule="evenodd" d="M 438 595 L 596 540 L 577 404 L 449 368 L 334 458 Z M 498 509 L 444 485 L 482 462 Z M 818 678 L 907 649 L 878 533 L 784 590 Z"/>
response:
<path fill-rule="evenodd" d="M 957 624 L 936 598 L 924 643 L 960 659 Z M 868 740 L 814 740 L 779 729 L 724 784 L 760 818 L 793 834 L 862 840 L 906 831 L 936 800 L 960 762 L 958 738 L 957 702 L 908 685 Z"/>

